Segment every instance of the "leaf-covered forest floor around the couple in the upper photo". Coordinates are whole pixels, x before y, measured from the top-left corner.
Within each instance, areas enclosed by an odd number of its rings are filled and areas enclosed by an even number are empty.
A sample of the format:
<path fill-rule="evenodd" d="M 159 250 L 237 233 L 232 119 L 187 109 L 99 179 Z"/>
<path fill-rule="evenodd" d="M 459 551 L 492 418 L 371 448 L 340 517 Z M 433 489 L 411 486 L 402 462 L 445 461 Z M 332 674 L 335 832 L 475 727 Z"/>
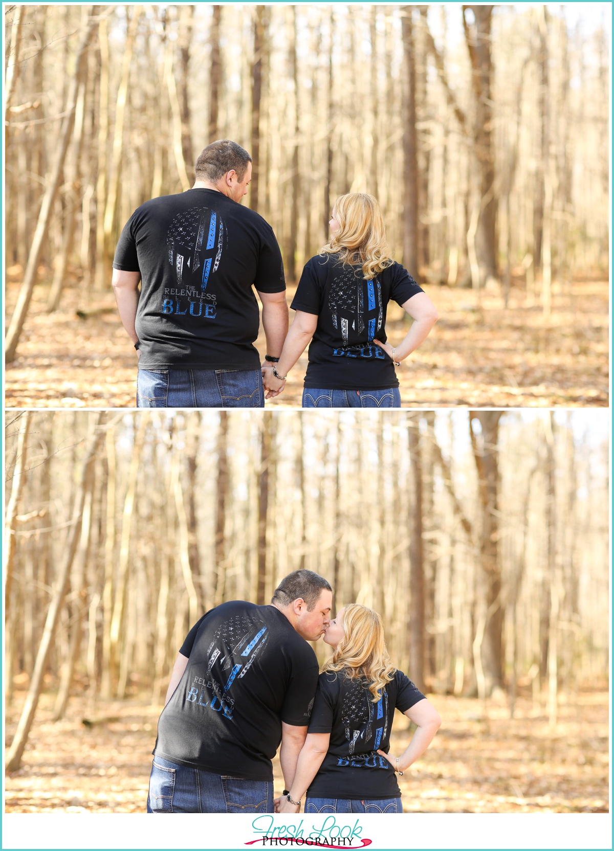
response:
<path fill-rule="evenodd" d="M 17 270 L 17 271 L 15 271 Z M 20 267 L 10 267 L 7 317 Z M 587 407 L 608 405 L 608 283 L 586 278 L 554 283 L 548 321 L 528 306 L 515 281 L 508 309 L 500 294 L 427 286 L 439 322 L 398 369 L 404 408 Z M 14 363 L 5 371 L 7 408 L 134 408 L 136 357 L 111 292 L 66 288 L 60 310 L 45 312 L 48 283 L 34 290 Z M 294 288 L 288 290 L 288 303 Z M 99 311 L 85 319 L 77 310 Z M 290 318 L 294 313 L 290 311 Z M 405 311 L 391 302 L 387 333 L 399 344 Z M 264 334 L 256 342 L 263 357 Z M 284 393 L 267 407 L 301 407 L 307 354 Z"/>

